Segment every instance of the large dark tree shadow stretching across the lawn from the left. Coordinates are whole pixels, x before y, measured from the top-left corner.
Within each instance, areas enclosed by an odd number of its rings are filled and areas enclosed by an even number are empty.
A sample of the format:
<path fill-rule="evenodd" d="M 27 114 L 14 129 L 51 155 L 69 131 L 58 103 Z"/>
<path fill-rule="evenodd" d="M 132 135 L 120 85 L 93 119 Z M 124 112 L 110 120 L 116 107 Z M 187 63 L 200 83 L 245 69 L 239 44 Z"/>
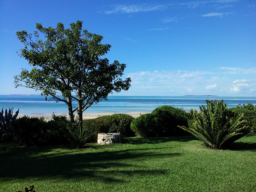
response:
<path fill-rule="evenodd" d="M 67 178 L 69 180 L 92 180 L 97 182 L 128 182 L 129 176 L 165 174 L 162 169 L 150 167 L 148 162 L 154 159 L 179 156 L 180 153 L 157 153 L 160 148 L 126 149 L 121 151 L 103 151 L 85 153 L 48 154 L 37 156 L 25 154 L 12 155 L 12 158 L 0 159 L 4 166 L 0 169 L 0 178 L 5 181 L 15 179 L 42 180 L 44 178 Z M 31 150 L 28 150 L 31 151 Z M 10 156 L 10 154 L 9 154 Z M 6 156 L 7 157 L 7 156 Z M 136 163 L 135 163 L 136 162 Z M 3 165 L 3 164 L 2 164 Z M 118 179 L 117 179 L 118 178 Z M 119 179 L 123 178 L 123 179 Z"/>

